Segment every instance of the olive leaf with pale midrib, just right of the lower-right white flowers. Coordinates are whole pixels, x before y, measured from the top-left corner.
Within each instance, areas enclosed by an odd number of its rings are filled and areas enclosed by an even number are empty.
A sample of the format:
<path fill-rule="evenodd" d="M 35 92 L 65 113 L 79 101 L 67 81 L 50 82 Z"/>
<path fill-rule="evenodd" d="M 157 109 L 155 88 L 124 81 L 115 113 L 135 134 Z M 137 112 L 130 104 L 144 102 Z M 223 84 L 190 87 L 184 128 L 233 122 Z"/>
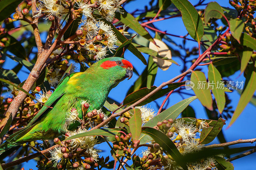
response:
<path fill-rule="evenodd" d="M 217 137 L 223 125 L 225 124 L 225 120 L 219 118 L 219 120 L 213 125 L 213 127 L 203 128 L 199 144 L 209 144 L 210 142 Z"/>

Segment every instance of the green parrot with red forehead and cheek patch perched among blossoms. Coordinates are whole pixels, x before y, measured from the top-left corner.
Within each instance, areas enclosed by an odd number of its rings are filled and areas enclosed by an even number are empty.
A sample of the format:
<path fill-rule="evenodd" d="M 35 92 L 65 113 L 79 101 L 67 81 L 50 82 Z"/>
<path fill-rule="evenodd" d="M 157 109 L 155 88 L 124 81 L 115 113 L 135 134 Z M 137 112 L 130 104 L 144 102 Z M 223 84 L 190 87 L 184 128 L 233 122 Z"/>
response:
<path fill-rule="evenodd" d="M 110 90 L 132 77 L 132 64 L 120 57 L 102 59 L 84 72 L 71 73 L 56 87 L 41 110 L 28 125 L 0 145 L 4 151 L 35 140 L 53 139 L 68 132 L 72 122 L 66 116 L 72 107 L 82 119 L 81 101 L 89 100 L 88 111 L 103 107 Z"/>

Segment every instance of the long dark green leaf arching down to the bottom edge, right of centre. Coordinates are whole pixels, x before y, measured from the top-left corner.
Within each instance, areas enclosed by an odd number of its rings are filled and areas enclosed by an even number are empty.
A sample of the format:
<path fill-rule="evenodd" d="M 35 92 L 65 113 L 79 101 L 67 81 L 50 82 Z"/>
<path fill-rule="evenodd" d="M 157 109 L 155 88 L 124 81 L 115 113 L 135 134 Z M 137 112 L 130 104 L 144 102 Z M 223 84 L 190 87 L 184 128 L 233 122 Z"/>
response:
<path fill-rule="evenodd" d="M 141 133 L 144 133 L 150 137 L 152 137 L 157 144 L 159 144 L 167 153 L 169 153 L 172 158 L 184 169 L 188 169 L 186 164 L 182 162 L 182 156 L 177 149 L 176 145 L 172 142 L 172 140 L 167 137 L 163 132 L 156 130 L 150 127 L 143 127 Z"/>

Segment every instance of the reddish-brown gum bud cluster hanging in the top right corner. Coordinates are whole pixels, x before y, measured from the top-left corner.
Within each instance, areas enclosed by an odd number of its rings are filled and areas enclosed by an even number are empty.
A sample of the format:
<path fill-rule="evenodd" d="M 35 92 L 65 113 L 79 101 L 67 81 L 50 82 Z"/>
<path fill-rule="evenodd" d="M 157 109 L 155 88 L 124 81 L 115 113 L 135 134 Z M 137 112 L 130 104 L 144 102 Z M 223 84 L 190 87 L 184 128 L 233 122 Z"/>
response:
<path fill-rule="evenodd" d="M 231 4 L 237 11 L 240 12 L 240 16 L 244 17 L 246 21 L 245 30 L 252 36 L 253 33 L 256 33 L 256 18 L 253 16 L 255 13 L 254 8 L 256 5 L 256 0 L 229 0 L 229 4 Z"/>

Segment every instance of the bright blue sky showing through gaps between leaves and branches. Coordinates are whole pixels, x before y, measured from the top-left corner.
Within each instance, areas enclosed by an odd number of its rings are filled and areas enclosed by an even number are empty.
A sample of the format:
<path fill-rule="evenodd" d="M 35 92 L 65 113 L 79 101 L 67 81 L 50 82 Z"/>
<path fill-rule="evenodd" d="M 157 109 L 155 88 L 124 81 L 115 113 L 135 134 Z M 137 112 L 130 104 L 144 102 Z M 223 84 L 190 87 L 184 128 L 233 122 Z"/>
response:
<path fill-rule="evenodd" d="M 128 12 L 132 12 L 134 11 L 134 6 L 136 8 L 139 9 L 144 9 L 144 4 L 148 3 L 149 1 L 147 0 L 134 0 L 130 3 L 128 3 L 127 5 L 124 6 L 124 9 Z M 191 0 L 190 1 L 192 4 L 197 3 L 197 0 Z M 206 3 L 211 2 L 211 1 L 206 1 Z M 221 6 L 224 7 L 231 7 L 231 5 L 228 4 L 228 0 L 225 1 L 220 1 L 220 0 L 216 0 L 216 2 L 218 2 Z M 204 8 L 204 6 L 201 6 L 201 8 Z M 200 7 L 198 7 L 198 9 L 200 9 Z M 158 21 L 157 23 L 154 24 L 155 26 L 157 26 L 159 29 L 163 30 L 163 31 L 167 31 L 167 33 L 172 33 L 175 35 L 185 35 L 187 33 L 186 28 L 181 20 L 181 17 L 179 18 L 171 18 L 168 20 L 164 20 L 164 21 Z M 129 30 L 130 31 L 130 30 Z M 153 37 L 154 37 L 154 33 L 153 32 L 149 32 Z M 183 39 L 181 38 L 177 38 L 177 37 L 170 37 L 173 41 L 177 42 L 178 44 L 182 44 Z M 170 45 L 172 48 L 175 48 L 172 46 L 172 44 L 168 44 Z M 193 41 L 187 41 L 186 43 L 186 48 L 193 48 L 197 45 L 197 43 L 193 42 Z M 177 49 L 177 48 L 175 48 Z M 145 58 L 148 60 L 148 55 L 144 55 Z M 144 70 L 144 68 L 146 67 L 145 65 L 143 65 L 140 60 L 138 58 L 136 58 L 131 52 L 129 52 L 128 50 L 125 52 L 124 57 L 129 60 L 133 66 L 136 68 L 136 70 L 139 73 L 142 73 L 142 71 Z M 177 62 L 182 64 L 182 61 L 180 60 L 180 58 L 178 57 L 173 57 L 173 59 Z M 8 64 L 5 64 L 5 68 L 7 68 L 9 65 L 11 65 L 12 62 L 8 61 Z M 188 65 L 189 67 L 190 65 Z M 175 64 L 172 64 L 171 67 L 166 70 L 163 71 L 161 69 L 158 69 L 157 71 L 157 75 L 156 75 L 156 80 L 155 80 L 155 84 L 156 86 L 162 84 L 163 82 L 168 81 L 169 79 L 177 76 L 180 74 L 180 70 L 182 70 L 182 65 L 181 66 L 177 66 Z M 207 72 L 207 66 L 198 66 L 197 68 L 202 69 L 203 71 Z M 24 69 L 24 68 L 23 68 Z M 25 69 L 24 69 L 25 70 Z M 27 77 L 24 76 L 23 73 L 19 73 L 18 76 L 21 78 L 21 82 L 23 80 L 25 80 Z M 234 75 L 230 76 L 229 78 L 232 79 L 233 81 L 239 80 L 239 81 L 243 81 L 244 77 L 243 76 L 239 76 L 240 71 L 237 71 Z M 206 74 L 207 76 L 207 74 Z M 121 82 L 117 87 L 115 87 L 114 89 L 112 89 L 112 91 L 109 94 L 109 97 L 117 100 L 118 102 L 122 102 L 126 96 L 126 92 L 127 90 L 133 85 L 133 83 L 136 81 L 136 79 L 138 78 L 138 76 L 136 74 L 133 74 L 133 77 L 130 80 L 124 80 L 123 82 Z M 192 90 L 188 90 L 188 93 L 194 94 Z M 238 103 L 238 99 L 240 97 L 240 95 L 234 91 L 231 93 L 228 93 L 228 96 L 230 99 L 232 99 L 231 105 L 233 106 L 233 108 L 236 108 L 236 105 Z M 174 105 L 175 103 L 190 97 L 190 95 L 183 95 L 180 96 L 178 93 L 172 93 L 170 98 L 169 98 L 169 103 L 166 106 L 171 107 L 172 105 Z M 164 97 L 159 98 L 158 100 L 156 100 L 156 102 L 161 105 L 162 101 L 164 100 Z M 158 107 L 156 105 L 155 102 L 151 102 L 148 104 L 148 106 L 151 106 L 152 108 L 154 108 L 154 110 L 157 112 L 158 111 Z M 191 104 L 191 107 L 194 108 L 195 112 L 196 112 L 196 117 L 197 118 L 203 118 L 203 119 L 207 119 L 207 115 L 205 113 L 204 107 L 201 105 L 201 103 L 199 102 L 199 100 L 194 100 Z M 252 104 L 248 104 L 244 111 L 242 112 L 242 114 L 239 116 L 239 118 L 237 119 L 237 121 L 229 128 L 226 129 L 229 123 L 229 120 L 226 122 L 226 125 L 224 125 L 223 127 L 223 133 L 224 136 L 226 138 L 226 140 L 228 142 L 230 141 L 234 141 L 237 139 L 250 139 L 250 138 L 255 138 L 256 137 L 256 133 L 255 133 L 255 107 Z M 214 141 L 212 141 L 211 144 L 213 143 L 218 143 L 219 141 L 217 139 L 215 139 Z M 239 144 L 236 145 L 236 147 L 242 147 L 242 146 L 254 146 L 254 144 Z M 100 148 L 105 148 L 104 150 L 106 150 L 106 145 L 102 145 L 100 146 Z M 137 154 L 141 153 L 141 151 L 136 152 Z M 108 155 L 108 152 L 102 152 L 101 153 L 102 156 L 106 156 Z M 255 169 L 255 159 L 256 159 L 256 153 L 246 156 L 244 158 L 241 159 L 237 159 L 232 161 L 232 163 L 235 166 L 235 169 Z M 28 169 L 28 168 L 32 168 L 35 169 L 36 167 L 36 162 L 35 161 L 29 161 L 28 163 L 24 163 L 24 168 Z M 245 166 L 246 165 L 246 166 Z"/>

